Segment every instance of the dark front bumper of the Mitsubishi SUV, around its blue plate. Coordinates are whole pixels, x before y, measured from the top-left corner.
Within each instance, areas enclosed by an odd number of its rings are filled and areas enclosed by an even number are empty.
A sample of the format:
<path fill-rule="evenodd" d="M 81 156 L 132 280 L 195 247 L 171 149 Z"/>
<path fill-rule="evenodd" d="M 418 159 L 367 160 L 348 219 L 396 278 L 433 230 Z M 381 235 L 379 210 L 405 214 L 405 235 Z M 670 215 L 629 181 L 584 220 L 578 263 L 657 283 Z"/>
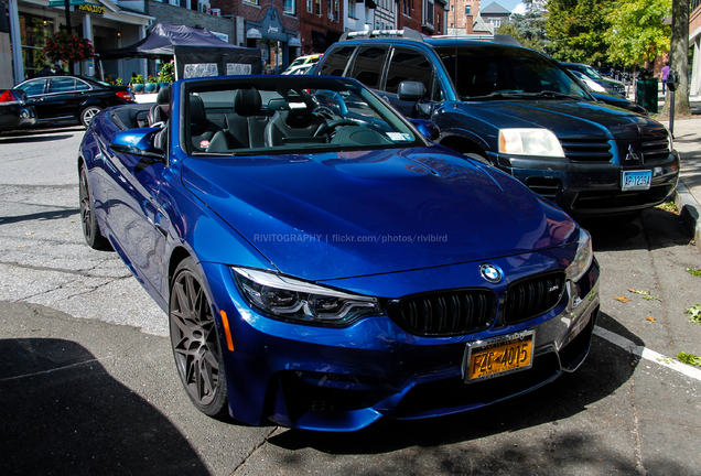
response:
<path fill-rule="evenodd" d="M 665 203 L 679 181 L 679 154 L 639 165 L 611 162 L 574 162 L 568 159 L 496 155 L 494 162 L 532 192 L 557 204 L 570 215 L 583 218 L 617 215 Z M 653 170 L 649 190 L 622 191 L 622 172 Z"/>

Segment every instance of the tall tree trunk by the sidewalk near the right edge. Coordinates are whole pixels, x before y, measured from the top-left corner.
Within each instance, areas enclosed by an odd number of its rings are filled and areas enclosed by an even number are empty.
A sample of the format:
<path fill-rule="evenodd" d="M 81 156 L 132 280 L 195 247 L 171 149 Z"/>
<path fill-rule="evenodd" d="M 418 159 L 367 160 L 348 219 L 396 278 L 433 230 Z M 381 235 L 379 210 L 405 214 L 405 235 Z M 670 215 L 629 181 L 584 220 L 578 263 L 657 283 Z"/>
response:
<path fill-rule="evenodd" d="M 675 94 L 675 116 L 691 115 L 689 105 L 689 0 L 672 0 L 672 25 L 669 52 L 669 71 L 679 74 L 679 86 Z M 669 116 L 667 93 L 662 116 Z"/>

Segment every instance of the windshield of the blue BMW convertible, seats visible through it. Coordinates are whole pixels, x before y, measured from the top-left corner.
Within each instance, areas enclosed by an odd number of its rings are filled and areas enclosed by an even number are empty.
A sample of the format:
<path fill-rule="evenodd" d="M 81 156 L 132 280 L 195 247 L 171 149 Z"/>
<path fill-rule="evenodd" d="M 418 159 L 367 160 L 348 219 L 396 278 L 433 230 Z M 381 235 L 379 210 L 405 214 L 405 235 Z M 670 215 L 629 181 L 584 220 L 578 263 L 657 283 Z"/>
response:
<path fill-rule="evenodd" d="M 271 76 L 187 84 L 193 155 L 278 155 L 427 142 L 355 80 Z"/>

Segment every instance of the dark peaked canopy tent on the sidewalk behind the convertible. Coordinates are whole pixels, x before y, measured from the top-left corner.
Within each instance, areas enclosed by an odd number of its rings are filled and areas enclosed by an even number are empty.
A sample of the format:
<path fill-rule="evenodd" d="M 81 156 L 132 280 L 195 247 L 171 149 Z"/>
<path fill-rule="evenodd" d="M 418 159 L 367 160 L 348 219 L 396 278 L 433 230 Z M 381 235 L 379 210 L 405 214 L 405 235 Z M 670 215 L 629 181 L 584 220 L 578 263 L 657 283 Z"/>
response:
<path fill-rule="evenodd" d="M 236 46 L 206 29 L 157 23 L 143 40 L 98 52 L 100 60 L 175 57 L 175 78 L 260 74 L 260 50 Z"/>

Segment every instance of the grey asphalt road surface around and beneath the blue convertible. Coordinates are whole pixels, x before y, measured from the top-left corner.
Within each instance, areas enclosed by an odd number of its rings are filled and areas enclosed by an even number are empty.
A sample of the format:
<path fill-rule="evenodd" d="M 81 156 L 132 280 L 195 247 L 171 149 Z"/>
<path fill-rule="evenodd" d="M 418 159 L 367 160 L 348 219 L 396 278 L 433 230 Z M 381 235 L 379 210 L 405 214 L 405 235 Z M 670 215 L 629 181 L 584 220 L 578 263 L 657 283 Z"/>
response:
<path fill-rule="evenodd" d="M 192 407 L 165 314 L 84 244 L 82 136 L 0 134 L 0 474 L 701 475 L 701 369 L 673 359 L 701 355 L 701 253 L 677 215 L 591 228 L 602 314 L 573 375 L 355 434 L 249 428 Z"/>

